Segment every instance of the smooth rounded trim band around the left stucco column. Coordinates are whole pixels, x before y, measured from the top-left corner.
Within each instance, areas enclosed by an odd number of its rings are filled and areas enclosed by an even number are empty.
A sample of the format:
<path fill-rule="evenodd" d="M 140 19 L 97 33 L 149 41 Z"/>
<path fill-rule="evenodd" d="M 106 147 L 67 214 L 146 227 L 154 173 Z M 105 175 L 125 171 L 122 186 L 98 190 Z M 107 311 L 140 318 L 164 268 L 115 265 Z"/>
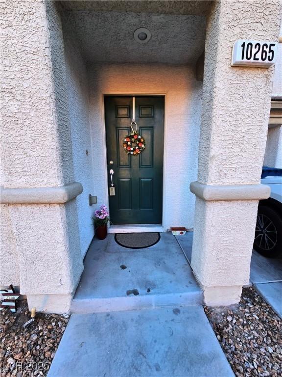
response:
<path fill-rule="evenodd" d="M 58 187 L 3 188 L 0 190 L 1 204 L 62 204 L 81 194 L 79 182 Z"/>

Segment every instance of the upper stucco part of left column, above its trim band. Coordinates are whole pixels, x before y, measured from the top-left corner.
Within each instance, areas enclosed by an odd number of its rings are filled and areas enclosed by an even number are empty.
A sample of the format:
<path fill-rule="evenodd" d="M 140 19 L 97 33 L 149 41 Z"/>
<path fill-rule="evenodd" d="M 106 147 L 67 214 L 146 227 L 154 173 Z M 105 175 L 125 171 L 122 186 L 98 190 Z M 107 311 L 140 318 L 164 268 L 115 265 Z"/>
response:
<path fill-rule="evenodd" d="M 0 7 L 3 184 L 73 182 L 59 14 L 51 1 L 4 1 Z"/>

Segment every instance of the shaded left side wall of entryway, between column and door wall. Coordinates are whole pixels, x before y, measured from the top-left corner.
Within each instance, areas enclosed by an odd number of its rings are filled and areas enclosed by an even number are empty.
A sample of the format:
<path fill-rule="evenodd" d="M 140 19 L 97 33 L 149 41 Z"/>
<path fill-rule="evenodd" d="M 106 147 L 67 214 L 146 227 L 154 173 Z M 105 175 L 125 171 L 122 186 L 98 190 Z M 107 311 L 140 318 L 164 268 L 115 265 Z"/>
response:
<path fill-rule="evenodd" d="M 64 35 L 69 114 L 71 124 L 74 179 L 83 186 L 76 198 L 81 253 L 84 255 L 94 236 L 93 206 L 88 195 L 93 191 L 92 146 L 89 122 L 87 73 L 79 46 Z"/>

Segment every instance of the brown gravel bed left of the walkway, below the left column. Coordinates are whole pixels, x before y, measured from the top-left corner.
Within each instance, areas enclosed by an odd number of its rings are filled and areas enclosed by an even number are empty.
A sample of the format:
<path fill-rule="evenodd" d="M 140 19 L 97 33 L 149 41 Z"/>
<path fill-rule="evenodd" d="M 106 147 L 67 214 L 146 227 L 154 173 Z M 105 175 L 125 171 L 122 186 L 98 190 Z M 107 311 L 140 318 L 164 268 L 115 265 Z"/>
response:
<path fill-rule="evenodd" d="M 26 300 L 18 303 L 16 313 L 3 309 L 0 315 L 1 377 L 46 376 L 58 348 L 69 315 L 37 313 L 30 319 Z"/>

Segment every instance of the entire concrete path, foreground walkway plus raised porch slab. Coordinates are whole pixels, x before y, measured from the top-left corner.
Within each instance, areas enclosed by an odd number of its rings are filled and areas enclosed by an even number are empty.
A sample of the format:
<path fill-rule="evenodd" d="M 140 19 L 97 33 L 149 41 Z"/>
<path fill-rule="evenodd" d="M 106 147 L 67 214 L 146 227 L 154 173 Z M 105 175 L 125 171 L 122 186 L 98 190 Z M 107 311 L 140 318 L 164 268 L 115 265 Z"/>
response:
<path fill-rule="evenodd" d="M 94 240 L 48 377 L 234 376 L 202 299 L 171 233 L 146 249 Z"/>

